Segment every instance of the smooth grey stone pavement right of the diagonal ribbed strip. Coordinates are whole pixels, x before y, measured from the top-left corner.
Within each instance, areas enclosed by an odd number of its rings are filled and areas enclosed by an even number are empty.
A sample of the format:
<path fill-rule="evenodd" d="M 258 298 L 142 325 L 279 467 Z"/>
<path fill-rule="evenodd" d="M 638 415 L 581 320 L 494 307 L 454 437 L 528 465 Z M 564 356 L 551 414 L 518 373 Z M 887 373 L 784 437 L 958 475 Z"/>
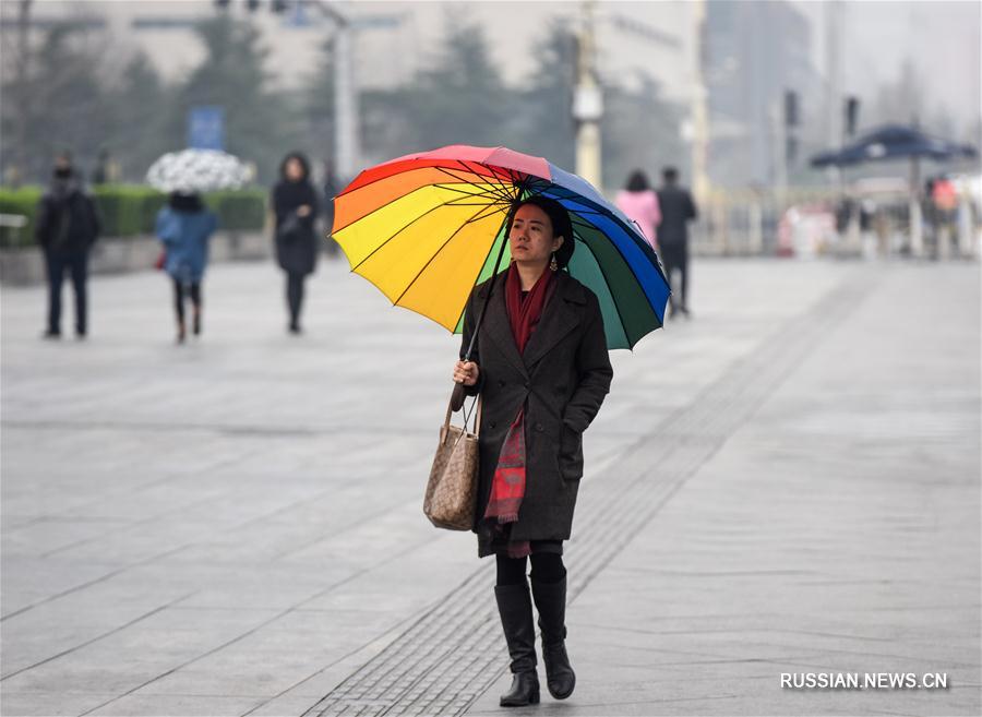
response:
<path fill-rule="evenodd" d="M 935 275 L 918 303 L 909 276 L 887 275 L 576 597 L 576 694 L 536 714 L 979 714 L 979 330 L 930 318 L 962 315 L 978 277 Z M 782 671 L 953 686 L 795 692 Z M 508 679 L 469 714 L 500 714 Z"/>

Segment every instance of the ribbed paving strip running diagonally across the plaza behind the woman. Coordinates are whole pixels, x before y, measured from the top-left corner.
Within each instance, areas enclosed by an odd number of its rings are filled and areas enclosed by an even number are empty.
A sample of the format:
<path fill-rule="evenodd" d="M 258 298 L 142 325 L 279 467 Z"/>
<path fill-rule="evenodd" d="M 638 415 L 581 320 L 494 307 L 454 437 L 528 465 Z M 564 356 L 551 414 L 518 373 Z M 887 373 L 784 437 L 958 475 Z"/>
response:
<path fill-rule="evenodd" d="M 594 489 L 584 491 L 577 511 L 582 516 L 577 525 L 577 538 L 586 537 L 588 540 L 584 541 L 586 550 L 568 559 L 577 577 L 571 585 L 567 602 L 575 600 L 603 567 L 631 543 L 685 480 L 750 420 L 773 390 L 797 370 L 798 359 L 807 351 L 814 339 L 823 331 L 834 328 L 847 313 L 854 311 L 860 300 L 872 291 L 875 283 L 860 272 L 847 273 L 845 278 L 810 307 L 786 320 L 776 332 L 766 336 L 750 355 L 738 359 L 693 401 L 663 418 L 659 426 L 664 430 L 654 431 L 659 439 L 674 437 L 683 440 L 661 441 L 655 445 L 654 452 L 648 439 L 637 440 L 625 446 L 621 461 L 607 468 L 606 473 L 612 477 L 604 477 L 602 483 L 596 483 L 603 492 L 594 488 L 592 480 L 588 483 Z M 650 466 L 656 464 L 657 482 L 648 479 Z M 657 499 L 652 500 L 652 489 L 656 488 Z M 505 671 L 504 667 L 495 666 L 501 650 L 495 649 L 499 640 L 493 630 L 493 611 L 480 611 L 477 616 L 465 614 L 463 619 L 458 618 L 462 607 L 470 608 L 482 604 L 481 593 L 484 587 L 478 578 L 486 573 L 487 566 L 475 571 L 471 575 L 474 579 L 466 581 L 448 593 L 419 622 L 313 704 L 303 716 L 349 714 L 346 706 L 352 700 L 363 698 L 380 680 L 392 676 L 399 668 L 403 670 L 399 676 L 415 674 L 410 686 L 400 686 L 400 680 L 394 680 L 390 683 L 393 686 L 388 689 L 382 706 L 375 704 L 373 709 L 372 706 L 362 704 L 359 714 L 376 717 L 410 714 L 419 701 L 419 696 L 412 693 L 412 686 L 431 674 L 443 674 L 444 672 L 434 672 L 439 661 L 451 665 L 459 662 L 463 656 L 475 653 L 476 656 L 468 664 L 470 674 L 464 681 L 466 688 L 474 686 L 470 696 L 465 697 L 464 690 L 455 688 L 454 683 L 460 682 L 456 672 L 453 673 L 455 680 L 433 688 L 438 696 L 452 697 L 442 713 L 466 713 Z M 478 586 L 481 587 L 480 593 Z M 440 621 L 442 625 L 434 624 Z M 455 624 L 455 621 L 459 624 Z M 464 634 L 465 637 L 443 645 L 447 625 L 453 628 L 451 633 Z M 412 648 L 412 643 L 429 643 L 431 648 L 419 656 L 418 645 Z M 434 656 L 438 665 L 432 664 Z M 415 662 L 409 659 L 412 657 L 416 658 Z M 376 702 L 378 700 L 373 701 L 373 704 Z"/>

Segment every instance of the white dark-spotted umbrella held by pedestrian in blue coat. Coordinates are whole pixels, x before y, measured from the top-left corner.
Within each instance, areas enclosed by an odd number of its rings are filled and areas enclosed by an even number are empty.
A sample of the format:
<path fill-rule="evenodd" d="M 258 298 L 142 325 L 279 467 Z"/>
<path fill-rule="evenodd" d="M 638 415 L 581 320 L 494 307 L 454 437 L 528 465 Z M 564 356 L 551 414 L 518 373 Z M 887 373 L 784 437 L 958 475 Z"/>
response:
<path fill-rule="evenodd" d="M 146 181 L 161 192 L 192 194 L 238 189 L 250 179 L 238 157 L 217 150 L 168 152 L 146 172 Z"/>

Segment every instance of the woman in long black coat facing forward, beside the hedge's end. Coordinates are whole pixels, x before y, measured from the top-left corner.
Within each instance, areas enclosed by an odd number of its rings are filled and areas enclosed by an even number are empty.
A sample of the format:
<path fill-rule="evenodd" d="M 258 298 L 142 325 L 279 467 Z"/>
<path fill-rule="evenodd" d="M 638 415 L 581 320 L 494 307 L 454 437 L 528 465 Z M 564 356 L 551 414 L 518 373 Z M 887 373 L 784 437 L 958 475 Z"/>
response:
<path fill-rule="evenodd" d="M 303 280 L 318 261 L 318 193 L 310 182 L 310 164 L 299 152 L 288 154 L 279 167 L 280 179 L 273 188 L 276 216 L 276 261 L 287 275 L 289 331 L 300 333 Z"/>

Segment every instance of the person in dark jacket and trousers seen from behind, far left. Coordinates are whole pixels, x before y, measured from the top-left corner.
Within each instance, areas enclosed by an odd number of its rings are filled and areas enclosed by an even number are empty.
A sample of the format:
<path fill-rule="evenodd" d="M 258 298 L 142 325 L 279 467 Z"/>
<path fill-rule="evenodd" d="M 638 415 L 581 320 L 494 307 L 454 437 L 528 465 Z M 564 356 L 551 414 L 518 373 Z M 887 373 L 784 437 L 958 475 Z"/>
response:
<path fill-rule="evenodd" d="M 82 191 L 71 156 L 55 160 L 51 186 L 38 204 L 35 239 L 45 254 L 48 278 L 48 326 L 45 338 L 61 337 L 61 286 L 72 277 L 75 292 L 75 335 L 88 331 L 88 252 L 99 236 L 99 216 L 92 198 Z"/>

